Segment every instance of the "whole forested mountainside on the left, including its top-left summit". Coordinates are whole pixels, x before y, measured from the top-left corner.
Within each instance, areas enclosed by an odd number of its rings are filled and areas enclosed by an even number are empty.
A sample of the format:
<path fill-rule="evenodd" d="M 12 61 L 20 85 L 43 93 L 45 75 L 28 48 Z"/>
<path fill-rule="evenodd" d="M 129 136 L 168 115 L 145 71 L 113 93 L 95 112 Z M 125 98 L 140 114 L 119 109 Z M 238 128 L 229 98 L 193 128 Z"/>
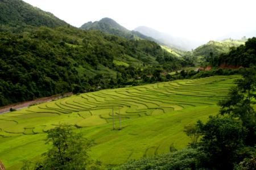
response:
<path fill-rule="evenodd" d="M 133 84 L 159 64 L 168 70 L 186 64 L 156 42 L 84 31 L 22 1 L 0 2 L 1 12 L 15 11 L 1 19 L 10 29 L 0 30 L 0 106 Z"/>

